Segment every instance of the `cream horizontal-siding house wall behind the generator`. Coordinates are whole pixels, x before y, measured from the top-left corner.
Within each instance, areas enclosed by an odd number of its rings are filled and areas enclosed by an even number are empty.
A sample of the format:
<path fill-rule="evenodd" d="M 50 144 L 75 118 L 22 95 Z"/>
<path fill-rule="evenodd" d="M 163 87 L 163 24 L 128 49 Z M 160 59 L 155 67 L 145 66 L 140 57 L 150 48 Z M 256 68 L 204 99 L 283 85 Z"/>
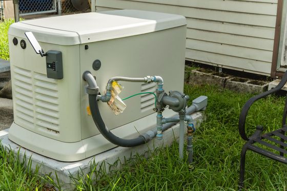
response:
<path fill-rule="evenodd" d="M 96 11 L 138 9 L 187 17 L 186 59 L 270 75 L 278 0 L 96 0 Z"/>

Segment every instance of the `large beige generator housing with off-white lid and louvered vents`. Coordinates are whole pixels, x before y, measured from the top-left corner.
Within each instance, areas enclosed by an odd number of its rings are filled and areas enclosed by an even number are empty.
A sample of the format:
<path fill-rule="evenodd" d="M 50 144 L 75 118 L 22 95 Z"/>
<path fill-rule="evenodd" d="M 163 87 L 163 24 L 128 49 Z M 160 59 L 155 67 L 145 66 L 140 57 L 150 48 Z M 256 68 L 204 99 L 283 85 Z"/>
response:
<path fill-rule="evenodd" d="M 36 54 L 25 36 L 31 31 L 42 49 L 59 51 L 63 77 L 48 77 L 46 58 Z M 183 91 L 186 19 L 180 15 L 117 10 L 48 17 L 11 25 L 11 62 L 14 122 L 9 139 L 35 153 L 77 161 L 116 145 L 97 130 L 89 111 L 83 73 L 96 77 L 103 95 L 114 76 L 161 76 L 163 89 Z M 100 67 L 93 62 L 100 60 Z M 97 65 L 98 66 L 98 65 Z M 156 83 L 120 82 L 119 97 L 155 92 Z M 114 115 L 105 102 L 99 110 L 107 127 L 131 139 L 155 127 L 152 94 L 124 101 L 124 113 Z M 165 117 L 175 113 L 166 110 Z"/>

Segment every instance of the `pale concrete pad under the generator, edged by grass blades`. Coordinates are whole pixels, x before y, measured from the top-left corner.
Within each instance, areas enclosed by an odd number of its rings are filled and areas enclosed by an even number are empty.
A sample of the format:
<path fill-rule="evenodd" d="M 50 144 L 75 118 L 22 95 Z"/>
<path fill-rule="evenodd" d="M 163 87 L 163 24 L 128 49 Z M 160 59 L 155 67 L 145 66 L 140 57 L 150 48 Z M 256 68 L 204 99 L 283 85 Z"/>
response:
<path fill-rule="evenodd" d="M 192 114 L 191 116 L 194 119 L 195 127 L 198 128 L 200 122 L 204 119 L 203 114 L 201 112 L 197 112 Z M 103 165 L 102 167 L 105 167 L 106 171 L 109 172 L 111 170 L 110 167 L 112 167 L 113 169 L 120 168 L 120 164 L 124 164 L 127 159 L 130 159 L 136 154 L 145 155 L 147 157 L 149 155 L 148 151 L 154 151 L 154 149 L 159 146 L 170 145 L 174 139 L 178 139 L 179 137 L 179 125 L 174 125 L 172 126 L 172 128 L 163 132 L 162 140 L 153 139 L 147 144 L 142 144 L 135 147 L 117 146 L 104 153 L 100 153 L 93 157 L 76 162 L 61 162 L 33 153 L 26 148 L 20 147 L 19 145 L 10 141 L 8 139 L 8 133 L 9 129 L 0 131 L 0 139 L 2 139 L 1 144 L 4 147 L 13 150 L 15 153 L 19 151 L 20 160 L 22 160 L 24 157 L 26 157 L 27 159 L 31 157 L 32 169 L 35 169 L 36 166 L 38 166 L 39 173 L 41 175 L 47 175 L 51 173 L 51 176 L 53 176 L 54 180 L 55 174 L 57 174 L 57 177 L 61 184 L 61 188 L 70 190 L 73 189 L 75 186 L 71 177 L 77 178 L 78 175 L 85 176 L 90 172 L 91 164 L 97 164 L 97 171 L 99 170 L 100 166 Z M 174 160 L 177 159 L 175 158 Z"/>

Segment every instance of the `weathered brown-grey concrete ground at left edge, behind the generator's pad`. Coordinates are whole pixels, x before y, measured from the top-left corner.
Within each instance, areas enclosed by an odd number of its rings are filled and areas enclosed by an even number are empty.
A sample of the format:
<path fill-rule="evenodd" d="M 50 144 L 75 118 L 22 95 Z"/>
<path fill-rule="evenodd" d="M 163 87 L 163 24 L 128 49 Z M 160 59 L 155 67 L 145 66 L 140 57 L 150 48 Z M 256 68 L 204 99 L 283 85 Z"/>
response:
<path fill-rule="evenodd" d="M 0 131 L 10 128 L 13 122 L 12 99 L 0 98 Z"/>

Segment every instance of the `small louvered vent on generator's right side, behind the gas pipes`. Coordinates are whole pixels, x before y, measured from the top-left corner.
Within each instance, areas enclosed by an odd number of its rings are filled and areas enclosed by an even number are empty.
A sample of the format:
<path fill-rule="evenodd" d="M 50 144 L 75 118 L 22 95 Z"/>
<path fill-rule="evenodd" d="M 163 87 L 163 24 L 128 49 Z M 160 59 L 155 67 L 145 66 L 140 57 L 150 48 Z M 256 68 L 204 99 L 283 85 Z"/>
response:
<path fill-rule="evenodd" d="M 156 90 L 156 83 L 144 83 L 141 84 L 141 93 L 142 92 L 153 92 Z M 155 97 L 153 94 L 142 94 L 140 96 L 140 110 L 141 112 L 150 111 L 154 108 Z"/>

